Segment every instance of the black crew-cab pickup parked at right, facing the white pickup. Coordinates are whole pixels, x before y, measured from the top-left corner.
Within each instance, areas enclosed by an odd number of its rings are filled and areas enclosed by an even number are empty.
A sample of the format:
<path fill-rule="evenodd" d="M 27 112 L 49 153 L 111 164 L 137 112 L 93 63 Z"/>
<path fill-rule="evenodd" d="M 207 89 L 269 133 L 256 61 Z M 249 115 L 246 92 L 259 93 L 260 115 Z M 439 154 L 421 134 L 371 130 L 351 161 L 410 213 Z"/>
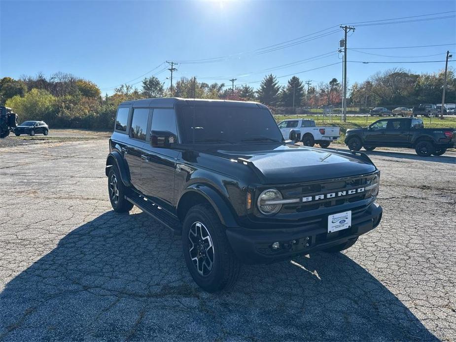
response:
<path fill-rule="evenodd" d="M 345 143 L 353 151 L 378 146 L 415 148 L 419 156 L 440 156 L 455 147 L 456 129 L 424 128 L 421 119 L 381 119 L 367 127 L 347 130 Z"/>

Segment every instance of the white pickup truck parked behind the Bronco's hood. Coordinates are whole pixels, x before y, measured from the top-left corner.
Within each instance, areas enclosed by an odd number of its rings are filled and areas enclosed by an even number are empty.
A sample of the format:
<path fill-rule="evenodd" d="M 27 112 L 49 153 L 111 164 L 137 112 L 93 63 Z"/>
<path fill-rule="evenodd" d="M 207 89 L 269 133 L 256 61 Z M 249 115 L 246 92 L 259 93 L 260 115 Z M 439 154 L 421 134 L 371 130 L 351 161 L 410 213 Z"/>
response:
<path fill-rule="evenodd" d="M 301 141 L 305 146 L 314 146 L 319 144 L 326 148 L 331 141 L 335 141 L 340 137 L 340 128 L 333 126 L 316 126 L 314 120 L 308 119 L 289 119 L 279 123 L 279 128 L 282 136 L 285 139 L 290 138 L 292 130 L 301 132 Z"/>

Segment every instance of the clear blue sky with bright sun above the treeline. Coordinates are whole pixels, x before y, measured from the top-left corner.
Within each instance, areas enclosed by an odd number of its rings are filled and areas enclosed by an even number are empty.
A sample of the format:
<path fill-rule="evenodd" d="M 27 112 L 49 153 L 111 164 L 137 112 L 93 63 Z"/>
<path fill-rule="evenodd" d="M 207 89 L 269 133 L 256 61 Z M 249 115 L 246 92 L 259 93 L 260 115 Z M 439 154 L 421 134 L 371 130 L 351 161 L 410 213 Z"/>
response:
<path fill-rule="evenodd" d="M 320 35 L 328 35 L 268 53 L 255 50 L 342 23 L 455 10 L 455 1 L 0 0 L 0 76 L 70 72 L 94 81 L 103 93 L 111 94 L 114 86 L 129 81 L 140 87 L 138 77 L 154 68 L 146 75 L 156 74 L 169 85 L 169 71 L 163 70 L 162 64 L 166 60 L 223 57 L 215 63 L 179 63 L 175 77 L 196 75 L 200 81 L 225 84 L 234 77 L 235 84 L 256 88 L 256 81 L 269 72 L 277 76 L 296 73 L 303 81 L 317 84 L 332 77 L 341 80 L 341 64 L 320 68 L 341 61 L 336 52 L 343 37 L 341 29 L 323 31 Z M 416 19 L 423 18 L 427 17 Z M 349 49 L 456 43 L 454 17 L 354 26 Z M 340 32 L 330 34 L 336 30 Z M 364 53 L 349 50 L 348 61 L 440 61 L 447 49 L 456 52 L 456 45 L 359 50 Z M 319 57 L 303 61 L 315 56 Z M 303 62 L 265 71 L 296 61 Z M 348 80 L 363 81 L 377 71 L 394 67 L 421 73 L 442 69 L 444 63 L 349 63 Z M 300 73 L 313 68 L 319 69 Z M 279 81 L 284 84 L 288 78 L 280 77 Z"/>

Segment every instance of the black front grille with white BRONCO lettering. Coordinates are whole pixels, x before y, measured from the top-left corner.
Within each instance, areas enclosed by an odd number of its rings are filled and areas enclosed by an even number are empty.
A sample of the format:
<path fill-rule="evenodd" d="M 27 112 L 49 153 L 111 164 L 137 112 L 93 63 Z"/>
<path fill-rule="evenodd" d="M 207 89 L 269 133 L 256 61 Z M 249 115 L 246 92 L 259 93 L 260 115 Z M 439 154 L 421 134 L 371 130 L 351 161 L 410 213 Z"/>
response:
<path fill-rule="evenodd" d="M 371 197 L 369 185 L 377 174 L 378 172 L 358 177 L 280 187 L 278 190 L 280 190 L 284 200 L 300 199 L 298 203 L 283 205 L 280 212 L 305 212 L 321 207 L 332 207 L 362 201 Z M 359 189 L 364 190 L 359 192 Z"/>

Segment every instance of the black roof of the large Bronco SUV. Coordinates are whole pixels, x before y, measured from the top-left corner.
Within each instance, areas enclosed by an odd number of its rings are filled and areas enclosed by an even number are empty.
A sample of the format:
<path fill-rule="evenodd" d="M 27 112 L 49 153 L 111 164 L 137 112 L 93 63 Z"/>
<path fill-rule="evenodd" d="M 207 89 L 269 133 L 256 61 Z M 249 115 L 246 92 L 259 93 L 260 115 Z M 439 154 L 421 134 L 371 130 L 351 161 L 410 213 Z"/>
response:
<path fill-rule="evenodd" d="M 197 105 L 197 106 L 233 106 L 233 107 L 268 107 L 264 104 L 250 101 L 229 101 L 229 100 L 208 100 L 208 99 L 182 99 L 182 98 L 156 98 L 156 99 L 140 99 L 126 101 L 120 105 L 131 104 L 133 107 L 159 107 L 159 108 L 174 108 L 176 105 Z"/>

